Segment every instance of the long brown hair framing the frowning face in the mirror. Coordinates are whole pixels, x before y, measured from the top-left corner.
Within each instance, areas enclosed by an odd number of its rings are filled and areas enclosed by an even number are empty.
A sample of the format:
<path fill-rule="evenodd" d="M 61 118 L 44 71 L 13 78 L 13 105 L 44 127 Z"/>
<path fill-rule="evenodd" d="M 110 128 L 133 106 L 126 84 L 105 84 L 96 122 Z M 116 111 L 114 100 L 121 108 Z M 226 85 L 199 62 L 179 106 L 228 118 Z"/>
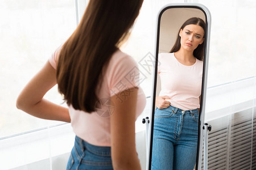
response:
<path fill-rule="evenodd" d="M 197 18 L 197 17 L 189 18 L 187 21 L 184 22 L 183 25 L 181 25 L 180 29 L 183 29 L 186 25 L 190 25 L 190 24 L 201 26 L 204 29 L 204 37 L 205 37 L 205 23 L 204 23 L 203 19 Z M 179 29 L 179 32 L 180 32 L 180 29 Z M 179 32 L 178 32 L 175 44 L 172 47 L 172 49 L 170 50 L 170 53 L 177 52 L 180 49 Z M 203 60 L 203 58 L 204 58 L 204 44 L 205 44 L 204 42 L 202 44 L 199 44 L 197 46 L 197 48 L 193 51 L 193 55 L 199 60 Z"/>

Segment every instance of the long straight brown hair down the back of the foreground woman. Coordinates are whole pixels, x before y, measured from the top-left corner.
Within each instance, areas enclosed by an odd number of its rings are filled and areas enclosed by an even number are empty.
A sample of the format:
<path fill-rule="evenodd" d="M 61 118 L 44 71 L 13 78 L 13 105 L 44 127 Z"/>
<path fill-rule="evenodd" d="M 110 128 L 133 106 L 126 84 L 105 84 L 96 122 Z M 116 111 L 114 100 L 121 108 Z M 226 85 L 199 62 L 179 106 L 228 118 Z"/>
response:
<path fill-rule="evenodd" d="M 90 0 L 75 32 L 64 43 L 57 63 L 57 84 L 68 105 L 95 111 L 102 70 L 129 34 L 143 0 Z"/>

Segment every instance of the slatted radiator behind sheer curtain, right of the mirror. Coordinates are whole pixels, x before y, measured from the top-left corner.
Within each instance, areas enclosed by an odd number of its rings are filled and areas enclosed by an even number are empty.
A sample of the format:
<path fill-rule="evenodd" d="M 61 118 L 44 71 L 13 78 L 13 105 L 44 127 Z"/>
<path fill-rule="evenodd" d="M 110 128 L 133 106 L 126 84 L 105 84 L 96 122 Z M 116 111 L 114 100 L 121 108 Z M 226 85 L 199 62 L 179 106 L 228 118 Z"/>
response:
<path fill-rule="evenodd" d="M 209 121 L 208 169 L 256 169 L 255 108 Z M 204 149 L 203 149 L 204 151 Z M 204 169 L 202 153 L 201 169 Z"/>

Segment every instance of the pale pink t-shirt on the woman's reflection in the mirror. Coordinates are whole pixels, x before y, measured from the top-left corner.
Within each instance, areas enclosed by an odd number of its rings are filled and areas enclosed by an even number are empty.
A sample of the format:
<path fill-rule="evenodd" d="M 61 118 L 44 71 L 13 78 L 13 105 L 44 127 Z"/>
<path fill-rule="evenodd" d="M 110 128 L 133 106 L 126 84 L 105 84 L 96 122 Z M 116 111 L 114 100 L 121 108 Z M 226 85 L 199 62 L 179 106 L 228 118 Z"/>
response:
<path fill-rule="evenodd" d="M 177 61 L 174 53 L 160 53 L 158 60 L 161 80 L 159 96 L 169 96 L 170 99 L 165 100 L 184 111 L 200 108 L 203 61 L 196 59 L 195 64 L 185 66 Z"/>

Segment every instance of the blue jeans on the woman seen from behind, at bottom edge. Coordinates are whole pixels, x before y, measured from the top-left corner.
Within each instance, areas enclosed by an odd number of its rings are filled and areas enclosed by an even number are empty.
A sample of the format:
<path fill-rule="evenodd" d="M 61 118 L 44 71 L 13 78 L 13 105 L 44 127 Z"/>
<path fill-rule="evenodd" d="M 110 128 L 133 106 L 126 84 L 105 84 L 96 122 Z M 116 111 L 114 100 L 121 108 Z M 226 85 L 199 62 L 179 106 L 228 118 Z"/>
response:
<path fill-rule="evenodd" d="M 68 160 L 69 169 L 113 169 L 111 147 L 91 145 L 76 136 Z"/>

